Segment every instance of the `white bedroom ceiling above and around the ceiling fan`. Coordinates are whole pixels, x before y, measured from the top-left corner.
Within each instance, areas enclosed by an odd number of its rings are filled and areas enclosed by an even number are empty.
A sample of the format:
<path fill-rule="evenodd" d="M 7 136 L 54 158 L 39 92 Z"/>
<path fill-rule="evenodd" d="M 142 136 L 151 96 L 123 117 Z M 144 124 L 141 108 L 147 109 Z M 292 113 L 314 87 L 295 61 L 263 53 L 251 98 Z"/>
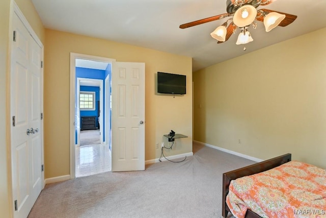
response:
<path fill-rule="evenodd" d="M 32 0 L 45 28 L 147 47 L 193 58 L 193 70 L 326 27 L 326 0 L 278 0 L 265 7 L 297 15 L 287 27 L 236 45 L 237 35 L 217 44 L 210 33 L 228 18 L 180 29 L 182 23 L 226 13 L 226 0 Z M 239 31 L 237 31 L 239 33 Z M 326 37 L 326 36 L 325 36 Z M 318 46 L 318 45 L 316 45 Z"/>

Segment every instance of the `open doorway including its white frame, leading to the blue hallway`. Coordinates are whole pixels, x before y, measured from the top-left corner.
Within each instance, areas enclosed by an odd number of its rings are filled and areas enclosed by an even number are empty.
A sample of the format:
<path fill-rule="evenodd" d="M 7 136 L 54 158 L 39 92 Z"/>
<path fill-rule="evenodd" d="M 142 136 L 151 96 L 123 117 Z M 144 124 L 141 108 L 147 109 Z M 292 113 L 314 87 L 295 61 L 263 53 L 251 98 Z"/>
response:
<path fill-rule="evenodd" d="M 111 103 L 114 60 L 71 53 L 70 61 L 70 105 L 74 105 L 71 113 L 75 117 L 70 177 L 111 171 L 111 104 L 106 102 Z"/>

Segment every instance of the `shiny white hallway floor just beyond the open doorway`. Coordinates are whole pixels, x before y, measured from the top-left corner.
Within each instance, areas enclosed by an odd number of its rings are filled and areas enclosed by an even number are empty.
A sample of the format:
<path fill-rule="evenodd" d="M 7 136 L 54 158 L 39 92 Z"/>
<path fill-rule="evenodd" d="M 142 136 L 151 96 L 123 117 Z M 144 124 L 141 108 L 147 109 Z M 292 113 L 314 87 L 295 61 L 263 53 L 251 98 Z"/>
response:
<path fill-rule="evenodd" d="M 111 171 L 111 151 L 108 146 L 91 144 L 76 147 L 76 177 Z"/>

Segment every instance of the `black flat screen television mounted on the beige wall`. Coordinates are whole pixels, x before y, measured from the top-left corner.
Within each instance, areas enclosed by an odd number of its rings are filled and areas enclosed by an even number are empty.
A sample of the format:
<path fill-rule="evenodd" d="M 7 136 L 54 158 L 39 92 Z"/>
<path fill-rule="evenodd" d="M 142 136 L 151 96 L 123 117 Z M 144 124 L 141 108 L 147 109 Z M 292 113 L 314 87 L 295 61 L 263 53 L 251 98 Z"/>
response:
<path fill-rule="evenodd" d="M 157 72 L 157 92 L 166 94 L 185 94 L 186 76 Z"/>

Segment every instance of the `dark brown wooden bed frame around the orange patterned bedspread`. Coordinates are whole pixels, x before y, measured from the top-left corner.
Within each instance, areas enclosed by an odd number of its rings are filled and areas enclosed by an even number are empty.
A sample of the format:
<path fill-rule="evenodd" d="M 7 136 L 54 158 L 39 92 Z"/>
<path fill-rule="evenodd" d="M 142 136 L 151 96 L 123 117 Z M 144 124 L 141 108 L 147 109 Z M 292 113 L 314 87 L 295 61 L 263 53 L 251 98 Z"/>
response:
<path fill-rule="evenodd" d="M 227 217 L 228 212 L 231 212 L 228 205 L 226 204 L 226 196 L 229 193 L 229 185 L 231 180 L 249 176 L 257 173 L 261 173 L 264 171 L 268 171 L 268 169 L 277 167 L 282 165 L 283 163 L 291 161 L 291 154 L 285 154 L 279 157 L 275 157 L 269 160 L 265 160 L 259 163 L 255 163 L 249 166 L 245 166 L 239 169 L 235 169 L 234 171 L 230 171 L 223 174 L 223 196 L 222 196 L 222 216 Z M 247 210 L 246 217 L 261 217 L 257 213 Z"/>

